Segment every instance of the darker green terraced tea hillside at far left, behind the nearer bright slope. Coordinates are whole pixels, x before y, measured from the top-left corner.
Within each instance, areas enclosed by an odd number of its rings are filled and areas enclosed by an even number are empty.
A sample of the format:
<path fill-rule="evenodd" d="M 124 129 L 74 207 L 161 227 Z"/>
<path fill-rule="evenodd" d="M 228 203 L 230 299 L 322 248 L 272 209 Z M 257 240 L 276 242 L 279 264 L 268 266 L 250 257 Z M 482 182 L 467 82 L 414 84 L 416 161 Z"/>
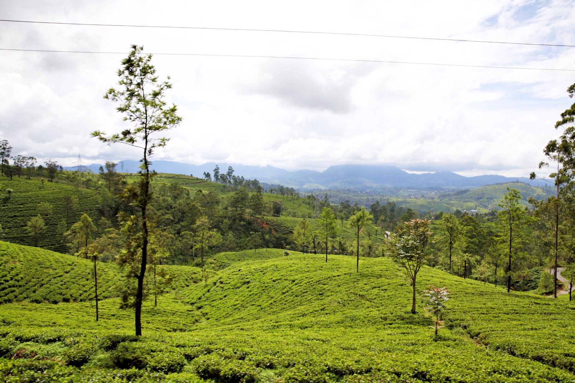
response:
<path fill-rule="evenodd" d="M 9 189 L 11 192 L 8 192 Z M 26 180 L 24 178 L 13 180 L 0 179 L 0 225 L 2 225 L 3 239 L 5 241 L 33 246 L 34 238 L 26 231 L 26 223 L 30 218 L 39 214 L 39 204 L 49 203 L 52 211 L 43 215 L 45 229 L 40 234 L 39 246 L 57 252 L 66 252 L 67 247 L 62 242 L 62 233 L 59 227 L 66 220 L 63 211 L 64 195 L 77 198 L 75 208 L 68 217 L 69 225 L 77 222 L 84 213 L 97 222 L 101 217 L 101 202 L 96 191 L 75 188 L 62 183 L 45 182 L 40 180 Z"/>

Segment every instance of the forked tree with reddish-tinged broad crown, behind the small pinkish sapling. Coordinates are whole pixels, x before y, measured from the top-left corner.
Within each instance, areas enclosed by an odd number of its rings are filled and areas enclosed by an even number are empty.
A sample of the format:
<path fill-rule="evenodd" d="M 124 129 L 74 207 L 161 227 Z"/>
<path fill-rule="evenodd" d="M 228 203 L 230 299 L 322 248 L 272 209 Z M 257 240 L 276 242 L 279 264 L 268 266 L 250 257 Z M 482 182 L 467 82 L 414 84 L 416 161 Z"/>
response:
<path fill-rule="evenodd" d="M 392 237 L 390 256 L 400 264 L 411 279 L 412 304 L 411 314 L 415 314 L 415 283 L 417 273 L 425 261 L 431 256 L 429 252 L 430 237 L 433 233 L 429 230 L 431 221 L 427 219 L 412 219 L 404 223 L 404 229 Z"/>

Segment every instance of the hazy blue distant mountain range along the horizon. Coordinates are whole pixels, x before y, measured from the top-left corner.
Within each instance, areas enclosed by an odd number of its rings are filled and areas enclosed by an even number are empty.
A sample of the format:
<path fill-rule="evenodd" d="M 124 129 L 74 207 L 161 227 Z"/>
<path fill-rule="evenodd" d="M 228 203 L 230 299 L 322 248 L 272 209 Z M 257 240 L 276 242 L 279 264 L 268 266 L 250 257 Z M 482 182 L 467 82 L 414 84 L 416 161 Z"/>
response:
<path fill-rule="evenodd" d="M 124 172 L 135 173 L 140 163 L 124 160 Z M 381 188 L 381 187 L 417 187 L 417 188 L 475 188 L 483 185 L 521 181 L 531 185 L 543 185 L 545 181 L 530 180 L 528 177 L 504 177 L 498 175 L 483 175 L 465 177 L 453 172 L 435 172 L 414 174 L 402 171 L 392 165 L 333 165 L 323 172 L 313 170 L 298 170 L 294 172 L 275 168 L 270 165 L 258 167 L 252 165 L 218 163 L 220 172 L 226 172 L 228 166 L 233 167 L 234 174 L 246 179 L 258 179 L 271 184 L 281 184 L 296 189 L 324 188 Z M 86 168 L 97 173 L 101 164 L 91 164 Z M 204 172 L 213 175 L 216 163 L 191 165 L 177 161 L 153 161 L 152 169 L 161 173 L 176 173 L 203 177 Z M 72 168 L 68 168 L 72 169 Z M 121 171 L 121 164 L 118 164 Z"/>

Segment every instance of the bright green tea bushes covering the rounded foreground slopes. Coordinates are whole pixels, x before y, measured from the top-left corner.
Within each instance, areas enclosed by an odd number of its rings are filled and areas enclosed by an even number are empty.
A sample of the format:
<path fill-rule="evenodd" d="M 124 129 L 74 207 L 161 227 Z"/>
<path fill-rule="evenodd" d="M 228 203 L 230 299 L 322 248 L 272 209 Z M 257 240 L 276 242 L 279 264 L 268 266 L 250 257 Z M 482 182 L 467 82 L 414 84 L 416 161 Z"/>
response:
<path fill-rule="evenodd" d="M 3 246 L 2 265 L 20 259 L 7 256 L 13 245 Z M 63 268 L 68 262 L 61 254 L 17 249 Z M 75 260 L 74 271 L 90 265 Z M 117 298 L 101 301 L 99 322 L 93 301 L 1 305 L 1 379 L 575 382 L 575 304 L 568 300 L 508 294 L 424 268 L 418 291 L 434 284 L 452 293 L 446 327 L 434 338 L 423 302 L 409 314 L 411 287 L 388 258 L 362 258 L 359 273 L 352 257 L 329 256 L 326 263 L 320 254 L 277 249 L 214 260 L 222 267 L 208 281 L 200 281 L 198 268 L 170 266 L 186 281 L 160 296 L 157 307 L 153 300 L 144 304 L 141 338 L 132 336 L 133 313 L 120 310 Z M 34 270 L 39 280 L 50 279 L 51 268 Z M 64 289 L 55 291 L 64 296 Z"/>

